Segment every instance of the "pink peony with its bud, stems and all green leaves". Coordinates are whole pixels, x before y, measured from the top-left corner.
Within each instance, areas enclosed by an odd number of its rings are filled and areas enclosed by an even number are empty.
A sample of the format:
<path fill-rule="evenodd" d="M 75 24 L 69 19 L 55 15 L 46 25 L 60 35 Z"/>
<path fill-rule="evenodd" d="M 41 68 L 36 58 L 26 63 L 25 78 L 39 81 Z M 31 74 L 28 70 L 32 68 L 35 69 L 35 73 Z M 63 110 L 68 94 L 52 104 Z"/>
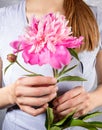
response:
<path fill-rule="evenodd" d="M 83 37 L 77 38 L 72 35 L 71 27 L 68 27 L 68 21 L 65 16 L 59 13 L 49 13 L 39 20 L 33 17 L 25 30 L 24 35 L 19 36 L 18 40 L 10 43 L 14 53 L 7 56 L 11 63 L 5 68 L 5 72 L 13 63 L 17 63 L 30 75 L 39 75 L 27 70 L 19 63 L 18 53 L 22 53 L 22 58 L 26 64 L 37 64 L 39 66 L 49 64 L 52 67 L 53 76 L 57 78 L 57 82 L 85 81 L 81 77 L 68 75 L 68 71 L 77 66 L 69 68 L 68 65 L 72 57 L 79 60 L 74 49 L 83 44 Z M 67 75 L 65 75 L 66 73 Z M 55 122 L 53 109 L 49 106 L 46 111 L 46 129 L 63 130 L 72 126 L 81 126 L 89 130 L 102 128 L 101 122 L 85 122 L 86 119 L 99 115 L 100 112 L 87 114 L 77 119 L 74 118 L 74 113 L 69 113 L 65 118 Z"/>

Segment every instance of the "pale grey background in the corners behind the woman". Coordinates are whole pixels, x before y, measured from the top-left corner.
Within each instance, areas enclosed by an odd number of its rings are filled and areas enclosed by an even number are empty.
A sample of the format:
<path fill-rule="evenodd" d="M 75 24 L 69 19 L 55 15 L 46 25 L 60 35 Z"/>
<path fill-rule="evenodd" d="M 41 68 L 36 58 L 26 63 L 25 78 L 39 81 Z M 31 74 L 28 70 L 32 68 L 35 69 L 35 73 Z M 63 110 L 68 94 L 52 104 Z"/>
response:
<path fill-rule="evenodd" d="M 0 0 L 0 7 L 8 6 L 10 4 L 15 4 L 19 1 L 20 0 Z M 85 0 L 85 1 L 89 4 L 98 5 L 98 6 L 102 7 L 102 0 Z M 102 100 L 102 99 L 100 99 L 100 100 Z M 3 121 L 4 114 L 5 114 L 5 111 L 0 110 L 0 130 L 1 130 L 1 124 Z M 102 116 L 98 117 L 98 119 L 102 120 Z"/>

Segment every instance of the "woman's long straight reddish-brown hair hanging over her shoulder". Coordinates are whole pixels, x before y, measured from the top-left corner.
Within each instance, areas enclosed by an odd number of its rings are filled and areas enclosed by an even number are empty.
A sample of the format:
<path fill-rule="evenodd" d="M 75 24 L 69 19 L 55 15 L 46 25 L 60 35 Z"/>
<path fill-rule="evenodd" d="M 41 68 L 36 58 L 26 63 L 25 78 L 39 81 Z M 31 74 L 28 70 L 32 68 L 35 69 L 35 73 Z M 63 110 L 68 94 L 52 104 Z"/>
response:
<path fill-rule="evenodd" d="M 99 30 L 95 16 L 83 0 L 64 0 L 65 16 L 69 20 L 74 36 L 84 36 L 79 51 L 92 51 L 99 41 Z"/>

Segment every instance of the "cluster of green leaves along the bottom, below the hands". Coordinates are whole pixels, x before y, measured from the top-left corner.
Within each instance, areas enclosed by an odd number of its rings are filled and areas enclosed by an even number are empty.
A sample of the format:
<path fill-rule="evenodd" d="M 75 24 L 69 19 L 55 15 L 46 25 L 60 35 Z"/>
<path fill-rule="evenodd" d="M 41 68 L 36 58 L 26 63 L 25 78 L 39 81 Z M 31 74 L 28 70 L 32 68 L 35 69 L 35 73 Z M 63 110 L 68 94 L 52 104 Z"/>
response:
<path fill-rule="evenodd" d="M 53 109 L 48 107 L 46 113 L 46 129 L 47 130 L 63 130 L 68 127 L 80 126 L 84 127 L 87 130 L 98 130 L 98 128 L 102 128 L 102 122 L 91 121 L 87 122 L 86 119 L 98 116 L 102 114 L 102 112 L 93 112 L 79 118 L 74 118 L 75 112 L 69 113 L 65 118 L 61 119 L 58 122 L 54 122 L 54 114 Z"/>

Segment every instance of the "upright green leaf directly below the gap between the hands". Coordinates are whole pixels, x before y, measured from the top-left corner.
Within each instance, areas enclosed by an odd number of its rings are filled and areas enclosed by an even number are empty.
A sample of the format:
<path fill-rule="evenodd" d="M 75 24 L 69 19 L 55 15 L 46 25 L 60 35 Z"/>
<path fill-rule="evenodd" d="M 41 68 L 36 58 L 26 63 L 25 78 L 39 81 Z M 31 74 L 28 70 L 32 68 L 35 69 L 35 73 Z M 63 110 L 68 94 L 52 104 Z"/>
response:
<path fill-rule="evenodd" d="M 48 107 L 46 111 L 46 121 L 45 121 L 45 126 L 47 130 L 50 130 L 53 120 L 54 120 L 53 109 Z"/>

